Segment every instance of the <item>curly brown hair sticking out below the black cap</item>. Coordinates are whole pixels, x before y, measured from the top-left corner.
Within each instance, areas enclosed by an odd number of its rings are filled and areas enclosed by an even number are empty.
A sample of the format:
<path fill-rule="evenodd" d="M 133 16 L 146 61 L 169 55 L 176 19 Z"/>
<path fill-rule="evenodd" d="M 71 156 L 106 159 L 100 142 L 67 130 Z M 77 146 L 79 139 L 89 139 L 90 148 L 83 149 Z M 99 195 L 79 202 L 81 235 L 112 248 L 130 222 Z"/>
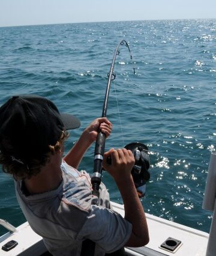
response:
<path fill-rule="evenodd" d="M 4 140 L 0 143 L 0 164 L 2 164 L 3 172 L 10 173 L 15 180 L 29 179 L 31 176 L 37 175 L 41 167 L 49 163 L 51 155 L 54 155 L 61 149 L 61 146 L 68 137 L 68 132 L 62 131 L 61 138 L 54 146 L 48 145 L 47 151 L 44 154 L 25 161 L 16 157 L 16 153 L 13 152 L 13 146 L 10 145 L 8 140 Z"/>

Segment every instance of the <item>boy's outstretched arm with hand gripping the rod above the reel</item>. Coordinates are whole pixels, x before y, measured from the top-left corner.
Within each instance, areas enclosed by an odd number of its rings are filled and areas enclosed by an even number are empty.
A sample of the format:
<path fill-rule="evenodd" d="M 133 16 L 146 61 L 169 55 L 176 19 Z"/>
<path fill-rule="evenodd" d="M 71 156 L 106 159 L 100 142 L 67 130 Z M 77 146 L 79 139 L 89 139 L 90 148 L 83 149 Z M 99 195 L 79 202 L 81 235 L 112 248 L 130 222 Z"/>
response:
<path fill-rule="evenodd" d="M 106 137 L 110 136 L 112 123 L 110 123 L 106 117 L 95 119 L 83 131 L 73 148 L 71 148 L 67 155 L 65 155 L 64 160 L 67 164 L 76 169 L 78 168 L 86 150 L 89 148 L 89 146 L 91 146 L 92 142 L 96 140 L 99 127 L 102 133 L 106 134 Z"/>

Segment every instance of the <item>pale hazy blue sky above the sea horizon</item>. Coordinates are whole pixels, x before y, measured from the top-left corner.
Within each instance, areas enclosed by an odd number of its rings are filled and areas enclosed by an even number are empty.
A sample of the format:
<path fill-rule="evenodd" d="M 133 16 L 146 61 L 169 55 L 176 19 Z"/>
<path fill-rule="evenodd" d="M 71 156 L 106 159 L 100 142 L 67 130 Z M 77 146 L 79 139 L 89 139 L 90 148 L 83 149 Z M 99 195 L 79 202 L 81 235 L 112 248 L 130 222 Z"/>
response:
<path fill-rule="evenodd" d="M 216 0 L 0 0 L 0 27 L 211 18 L 216 18 Z"/>

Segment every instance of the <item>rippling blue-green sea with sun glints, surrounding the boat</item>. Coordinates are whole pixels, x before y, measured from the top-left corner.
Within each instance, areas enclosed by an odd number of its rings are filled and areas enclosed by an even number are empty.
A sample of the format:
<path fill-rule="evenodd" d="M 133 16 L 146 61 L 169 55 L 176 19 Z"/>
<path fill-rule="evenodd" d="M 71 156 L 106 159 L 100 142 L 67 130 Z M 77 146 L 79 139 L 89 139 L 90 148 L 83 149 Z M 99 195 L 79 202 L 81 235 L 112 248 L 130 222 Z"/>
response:
<path fill-rule="evenodd" d="M 145 143 L 151 161 L 142 199 L 146 213 L 209 232 L 212 213 L 202 209 L 202 201 L 216 142 L 216 20 L 1 27 L 0 105 L 11 95 L 31 93 L 75 114 L 82 126 L 70 132 L 68 151 L 101 116 L 107 73 L 122 39 L 133 60 L 121 46 L 107 108 L 113 131 L 106 149 Z M 93 163 L 94 145 L 79 169 L 92 173 Z M 0 177 L 0 218 L 20 225 L 25 217 L 13 179 L 2 171 Z M 112 201 L 122 203 L 106 172 L 103 183 Z"/>

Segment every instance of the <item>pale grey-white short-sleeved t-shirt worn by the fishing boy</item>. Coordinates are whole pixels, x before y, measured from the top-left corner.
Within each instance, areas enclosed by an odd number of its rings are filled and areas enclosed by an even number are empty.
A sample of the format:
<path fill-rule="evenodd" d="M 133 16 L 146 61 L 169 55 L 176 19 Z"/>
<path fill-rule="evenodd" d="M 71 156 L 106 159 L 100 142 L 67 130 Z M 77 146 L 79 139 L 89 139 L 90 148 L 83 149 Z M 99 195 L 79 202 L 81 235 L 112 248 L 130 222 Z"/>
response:
<path fill-rule="evenodd" d="M 62 183 L 55 190 L 26 195 L 22 181 L 16 182 L 17 200 L 35 233 L 54 256 L 79 256 L 82 241 L 96 243 L 95 256 L 122 248 L 132 225 L 110 209 L 109 193 L 100 186 L 100 205 L 92 196 L 91 178 L 62 161 Z"/>

